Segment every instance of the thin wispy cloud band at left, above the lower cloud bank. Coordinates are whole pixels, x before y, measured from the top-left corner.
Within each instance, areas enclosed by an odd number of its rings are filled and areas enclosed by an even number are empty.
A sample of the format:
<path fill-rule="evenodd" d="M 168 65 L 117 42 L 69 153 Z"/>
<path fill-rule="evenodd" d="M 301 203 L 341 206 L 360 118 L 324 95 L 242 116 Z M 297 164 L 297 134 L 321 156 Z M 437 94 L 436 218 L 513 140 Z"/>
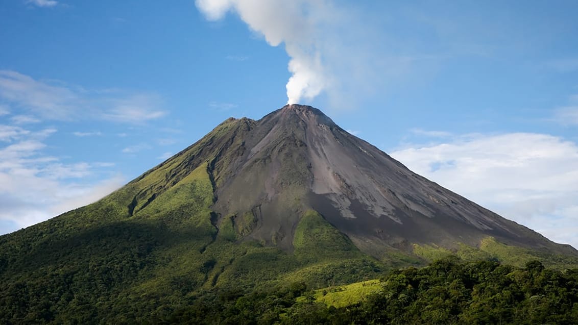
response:
<path fill-rule="evenodd" d="M 158 95 L 119 90 L 90 91 L 55 81 L 35 80 L 10 70 L 0 70 L 0 99 L 10 108 L 60 121 L 105 119 L 142 124 L 167 114 L 160 109 L 162 100 Z M 20 117 L 23 122 L 24 115 Z"/>

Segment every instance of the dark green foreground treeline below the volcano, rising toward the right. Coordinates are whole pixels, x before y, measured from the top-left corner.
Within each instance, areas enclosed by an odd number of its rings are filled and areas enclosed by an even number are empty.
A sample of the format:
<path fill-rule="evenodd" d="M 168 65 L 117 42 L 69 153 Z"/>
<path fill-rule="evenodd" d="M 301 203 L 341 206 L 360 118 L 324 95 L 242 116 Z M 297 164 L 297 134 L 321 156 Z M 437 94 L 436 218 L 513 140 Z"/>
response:
<path fill-rule="evenodd" d="M 576 324 L 578 269 L 555 271 L 444 259 L 390 272 L 383 288 L 349 307 L 314 301 L 305 285 L 271 292 L 221 292 L 180 308 L 188 324 Z M 296 302 L 298 296 L 308 297 Z"/>

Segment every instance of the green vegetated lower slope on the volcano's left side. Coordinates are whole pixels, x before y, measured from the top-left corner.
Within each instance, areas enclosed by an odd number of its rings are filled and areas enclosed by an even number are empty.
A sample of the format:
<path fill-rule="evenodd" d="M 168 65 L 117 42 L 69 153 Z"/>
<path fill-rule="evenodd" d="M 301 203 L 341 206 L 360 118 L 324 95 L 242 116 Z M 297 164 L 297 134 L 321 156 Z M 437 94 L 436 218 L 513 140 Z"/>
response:
<path fill-rule="evenodd" d="M 139 192 L 162 188 L 158 174 L 0 237 L 0 323 L 140 323 L 211 292 L 323 287 L 384 271 L 314 211 L 299 223 L 295 252 L 243 241 L 251 216 L 216 223 L 208 163 L 131 206 Z"/>

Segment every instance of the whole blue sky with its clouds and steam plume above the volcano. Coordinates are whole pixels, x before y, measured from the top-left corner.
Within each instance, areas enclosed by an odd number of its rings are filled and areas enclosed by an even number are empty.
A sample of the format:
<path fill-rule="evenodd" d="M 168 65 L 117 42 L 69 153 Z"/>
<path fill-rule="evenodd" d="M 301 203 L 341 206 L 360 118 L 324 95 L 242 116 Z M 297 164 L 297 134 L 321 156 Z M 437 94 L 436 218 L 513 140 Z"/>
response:
<path fill-rule="evenodd" d="M 299 103 L 578 247 L 576 12 L 575 1 L 2 1 L 0 233 L 97 200 L 228 117 L 261 118 L 296 76 Z"/>

